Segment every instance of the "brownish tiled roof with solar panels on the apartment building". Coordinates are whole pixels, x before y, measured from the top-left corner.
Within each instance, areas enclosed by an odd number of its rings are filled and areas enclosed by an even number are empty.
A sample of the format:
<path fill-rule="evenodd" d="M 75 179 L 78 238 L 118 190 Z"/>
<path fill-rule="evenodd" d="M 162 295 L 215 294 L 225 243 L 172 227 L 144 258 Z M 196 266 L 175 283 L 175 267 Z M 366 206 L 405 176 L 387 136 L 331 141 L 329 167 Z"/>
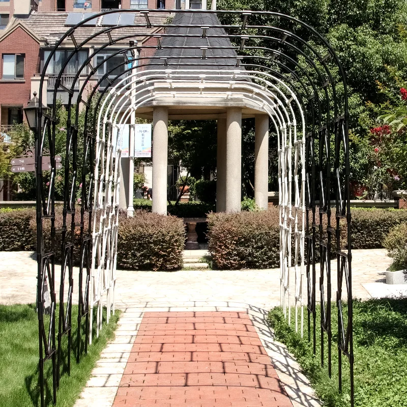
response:
<path fill-rule="evenodd" d="M 140 13 L 135 13 L 135 24 L 145 24 L 146 19 Z M 169 13 L 149 13 L 149 18 L 151 23 L 162 24 L 165 19 L 168 17 Z M 46 13 L 46 12 L 34 12 L 30 17 L 24 20 L 24 23 L 31 28 L 39 37 L 47 40 L 48 43 L 53 44 L 58 41 L 71 27 L 65 25 L 68 13 Z M 107 27 L 100 26 L 91 26 L 85 25 L 77 28 L 75 31 L 74 37 L 76 42 L 79 44 L 84 41 L 86 38 L 104 30 Z M 111 36 L 113 40 L 115 38 L 120 38 L 126 35 L 133 35 L 134 37 L 142 38 L 143 34 L 153 32 L 156 28 L 146 28 L 146 27 L 124 27 L 124 28 L 115 28 L 112 27 L 113 31 Z M 69 40 L 70 42 L 70 40 Z M 109 38 L 106 34 L 98 36 L 92 43 L 101 43 L 109 42 Z M 119 43 L 128 44 L 129 39 L 123 40 Z"/>

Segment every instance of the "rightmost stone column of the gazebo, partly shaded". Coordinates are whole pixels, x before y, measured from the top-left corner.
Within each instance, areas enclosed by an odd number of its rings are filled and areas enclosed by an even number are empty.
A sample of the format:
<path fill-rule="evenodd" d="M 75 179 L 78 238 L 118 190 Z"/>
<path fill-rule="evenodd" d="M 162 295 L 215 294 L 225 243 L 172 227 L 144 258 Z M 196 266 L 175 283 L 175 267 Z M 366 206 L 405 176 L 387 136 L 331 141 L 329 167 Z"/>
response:
<path fill-rule="evenodd" d="M 269 117 L 256 114 L 254 136 L 254 201 L 267 209 L 269 194 Z"/>

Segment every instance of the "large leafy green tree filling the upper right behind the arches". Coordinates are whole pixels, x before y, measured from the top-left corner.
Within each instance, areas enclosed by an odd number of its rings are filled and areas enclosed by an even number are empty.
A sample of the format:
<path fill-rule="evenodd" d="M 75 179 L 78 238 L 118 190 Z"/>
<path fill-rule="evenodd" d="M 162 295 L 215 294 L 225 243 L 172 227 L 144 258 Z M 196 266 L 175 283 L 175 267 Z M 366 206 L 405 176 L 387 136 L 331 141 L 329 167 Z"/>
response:
<path fill-rule="evenodd" d="M 374 157 L 369 147 L 370 129 L 376 121 L 377 114 L 369 104 L 385 103 L 385 95 L 377 92 L 376 81 L 385 83 L 394 92 L 399 91 L 399 86 L 394 76 L 389 75 L 388 66 L 398 72 L 399 77 L 407 77 L 407 42 L 406 30 L 403 24 L 407 21 L 407 2 L 398 0 L 218 0 L 218 9 L 222 10 L 257 10 L 278 11 L 297 17 L 323 34 L 335 49 L 339 60 L 346 72 L 349 109 L 351 114 L 351 181 L 356 185 L 360 182 L 369 182 L 372 177 L 371 165 Z M 223 23 L 241 24 L 239 16 L 221 15 Z M 250 17 L 250 24 L 277 26 L 275 17 L 258 15 Z M 309 32 L 300 26 L 279 20 L 278 26 L 289 28 L 295 34 L 309 41 L 317 50 L 326 53 L 322 47 L 315 43 Z M 268 35 L 279 37 L 278 33 Z M 239 41 L 238 41 L 239 42 Z M 289 39 L 290 43 L 296 43 Z M 234 45 L 240 45 L 236 43 Z M 267 39 L 257 39 L 245 45 L 276 48 L 276 43 Z M 285 53 L 290 54 L 287 46 L 278 45 Z M 258 53 L 243 51 L 247 54 Z M 291 54 L 293 55 L 293 54 Z M 303 58 L 300 64 L 306 65 Z M 318 65 L 318 64 L 317 64 Z M 327 65 L 333 73 L 336 83 L 339 76 L 335 65 L 328 60 Z M 274 63 L 274 69 L 279 69 Z M 316 75 L 309 71 L 313 79 Z M 337 97 L 343 101 L 343 89 L 336 85 Z M 402 113 L 398 111 L 398 113 Z M 394 111 L 394 114 L 397 114 Z M 375 126 L 373 126 L 374 128 Z M 369 150 L 370 149 L 370 150 Z M 395 150 L 395 149 L 394 149 Z M 401 150 L 400 150 L 401 151 Z M 369 153 L 369 154 L 367 154 Z M 374 150 L 373 150 L 374 153 Z M 389 152 L 389 154 L 393 154 Z M 370 158 L 369 158 L 370 157 Z M 373 165 L 374 166 L 374 165 Z"/>

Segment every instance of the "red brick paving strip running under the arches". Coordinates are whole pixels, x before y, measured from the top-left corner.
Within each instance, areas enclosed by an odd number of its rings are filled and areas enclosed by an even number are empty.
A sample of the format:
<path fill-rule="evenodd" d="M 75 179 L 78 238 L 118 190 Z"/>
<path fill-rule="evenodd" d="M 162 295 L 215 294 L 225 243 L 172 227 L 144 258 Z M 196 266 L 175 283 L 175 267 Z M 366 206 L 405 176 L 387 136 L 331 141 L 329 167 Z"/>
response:
<path fill-rule="evenodd" d="M 113 407 L 292 407 L 245 312 L 146 312 Z"/>

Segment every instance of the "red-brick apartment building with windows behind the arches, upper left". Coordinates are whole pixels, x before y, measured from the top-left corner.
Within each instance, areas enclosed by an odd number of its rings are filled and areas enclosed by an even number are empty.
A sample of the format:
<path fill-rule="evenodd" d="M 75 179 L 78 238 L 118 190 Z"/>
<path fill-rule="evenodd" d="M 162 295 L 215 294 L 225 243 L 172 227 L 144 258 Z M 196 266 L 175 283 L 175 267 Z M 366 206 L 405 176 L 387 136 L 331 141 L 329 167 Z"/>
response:
<path fill-rule="evenodd" d="M 28 100 L 32 98 L 33 92 L 39 92 L 40 73 L 43 70 L 44 62 L 47 60 L 50 50 L 54 44 L 61 39 L 63 34 L 79 21 L 88 17 L 88 13 L 97 13 L 105 9 L 142 9 L 142 8 L 167 8 L 177 7 L 177 0 L 10 0 L 5 2 L 0 0 L 1 21 L 4 23 L 0 30 L 0 126 L 1 132 L 7 134 L 8 129 L 13 124 L 22 123 L 23 107 Z M 7 18 L 6 18 L 7 15 Z M 169 14 L 154 13 L 151 17 L 157 21 L 164 21 Z M 98 25 L 103 27 L 106 24 L 111 25 L 107 18 L 100 18 Z M 126 23 L 129 24 L 127 14 Z M 123 16 L 124 24 L 125 17 Z M 113 24 L 120 25 L 121 18 Z M 143 24 L 144 18 L 137 13 L 134 14 L 135 24 Z M 156 40 L 151 37 L 142 36 L 142 34 L 153 33 L 154 28 L 125 27 L 115 30 L 120 35 L 129 35 L 139 43 L 148 43 L 156 45 Z M 78 42 L 88 38 L 95 32 L 95 22 L 84 25 L 78 31 Z M 67 88 L 72 85 L 73 78 L 78 72 L 83 62 L 93 53 L 95 48 L 99 48 L 106 38 L 90 41 L 81 49 L 78 54 L 71 60 L 65 69 L 62 77 L 62 84 Z M 128 39 L 120 41 L 115 46 L 120 49 L 128 45 Z M 58 51 L 51 61 L 46 71 L 46 81 L 43 89 L 43 101 L 47 104 L 52 103 L 51 95 L 55 85 L 55 78 L 66 61 L 69 51 L 74 49 L 71 38 L 66 39 L 62 46 L 66 50 Z M 104 59 L 106 54 L 113 53 L 114 47 L 109 47 L 103 55 L 100 54 L 95 58 L 94 66 Z M 148 57 L 154 53 L 154 49 L 141 51 L 140 56 Z M 114 65 L 123 62 L 123 56 L 116 56 L 109 62 L 105 63 L 92 80 L 96 82 L 98 77 L 103 76 Z M 124 71 L 124 66 L 118 68 Z M 119 71 L 114 72 L 114 76 Z M 88 70 L 84 68 L 79 77 L 79 83 L 75 85 L 75 92 L 79 92 L 79 87 L 88 77 Z M 102 83 L 102 88 L 106 83 Z M 68 94 L 59 91 L 60 98 L 65 104 L 68 101 Z M 75 97 L 75 96 L 74 96 Z"/>

